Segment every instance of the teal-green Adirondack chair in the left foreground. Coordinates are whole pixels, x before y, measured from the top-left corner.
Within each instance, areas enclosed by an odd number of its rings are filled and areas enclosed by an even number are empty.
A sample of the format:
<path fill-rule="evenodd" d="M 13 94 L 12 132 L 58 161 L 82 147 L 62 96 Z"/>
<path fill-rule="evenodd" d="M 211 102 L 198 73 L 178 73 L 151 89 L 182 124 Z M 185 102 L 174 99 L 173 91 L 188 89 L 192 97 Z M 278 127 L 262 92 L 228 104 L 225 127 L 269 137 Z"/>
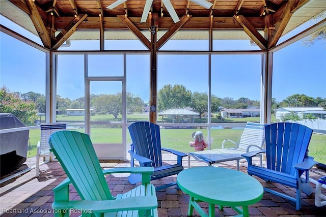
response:
<path fill-rule="evenodd" d="M 56 216 L 69 216 L 70 209 L 83 216 L 158 216 L 155 188 L 150 184 L 152 167 L 102 170 L 90 137 L 84 133 L 59 131 L 50 136 L 49 144 L 68 176 L 53 189 Z M 113 197 L 104 177 L 113 173 L 141 173 L 142 183 Z M 69 183 L 81 200 L 69 200 Z"/>

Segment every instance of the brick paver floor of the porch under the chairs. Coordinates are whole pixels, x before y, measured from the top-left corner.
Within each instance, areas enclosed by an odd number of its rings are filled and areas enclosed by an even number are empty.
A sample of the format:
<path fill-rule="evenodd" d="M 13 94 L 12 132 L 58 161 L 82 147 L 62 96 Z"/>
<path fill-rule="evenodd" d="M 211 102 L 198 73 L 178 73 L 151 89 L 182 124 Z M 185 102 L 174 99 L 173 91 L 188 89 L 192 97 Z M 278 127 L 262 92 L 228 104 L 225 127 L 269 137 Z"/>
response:
<path fill-rule="evenodd" d="M 166 156 L 167 159 L 169 157 Z M 172 163 L 172 161 L 171 161 Z M 28 159 L 26 165 L 32 167 L 35 165 L 35 158 Z M 186 159 L 183 162 L 186 169 Z M 193 166 L 206 166 L 204 163 L 192 161 Z M 101 163 L 103 168 L 111 167 L 129 167 L 129 162 L 124 161 L 106 161 Z M 231 169 L 236 168 L 235 162 L 226 162 L 218 166 L 227 167 Z M 0 205 L 1 216 L 53 216 L 53 209 L 51 204 L 53 202 L 52 189 L 56 187 L 67 176 L 62 167 L 57 161 L 48 162 L 40 166 L 41 175 L 35 177 L 35 169 L 15 177 L 11 180 L 3 182 L 0 188 Z M 242 172 L 247 171 L 246 162 L 240 164 Z M 106 177 L 107 183 L 110 186 L 113 195 L 122 193 L 125 190 L 132 189 L 134 185 L 127 180 L 128 174 L 110 175 Z M 312 179 L 317 180 L 319 177 L 326 175 L 325 171 L 313 168 L 310 172 Z M 155 185 L 168 182 L 176 179 L 176 176 L 167 177 L 161 180 L 152 181 Z M 240 180 L 239 180 L 240 181 Z M 270 188 L 278 189 L 289 195 L 294 195 L 294 189 L 284 187 L 281 184 L 265 183 L 263 180 L 259 181 Z M 315 183 L 311 185 L 315 187 Z M 71 187 L 71 199 L 78 199 L 78 195 Z M 326 193 L 325 189 L 322 189 Z M 250 206 L 251 216 L 326 216 L 326 206 L 314 206 L 314 193 L 310 196 L 302 194 L 303 204 L 300 211 L 295 210 L 295 204 L 289 202 L 281 197 L 273 194 L 265 193 L 262 200 Z M 165 190 L 157 191 L 158 213 L 159 216 L 186 216 L 188 209 L 188 195 L 175 187 L 170 187 Z M 207 203 L 201 202 L 201 207 L 207 210 Z M 216 216 L 231 216 L 236 213 L 229 207 L 225 207 L 223 211 L 215 206 Z M 71 216 L 77 216 L 79 213 L 71 213 Z M 194 215 L 198 216 L 196 210 Z"/>

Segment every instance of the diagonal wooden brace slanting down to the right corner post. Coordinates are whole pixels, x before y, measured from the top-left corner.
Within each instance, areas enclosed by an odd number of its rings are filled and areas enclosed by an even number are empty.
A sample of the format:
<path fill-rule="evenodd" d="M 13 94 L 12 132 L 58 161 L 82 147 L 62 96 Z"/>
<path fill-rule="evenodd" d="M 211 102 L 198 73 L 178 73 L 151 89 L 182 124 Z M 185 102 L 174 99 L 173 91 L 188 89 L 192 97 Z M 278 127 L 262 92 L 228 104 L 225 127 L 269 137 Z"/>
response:
<path fill-rule="evenodd" d="M 262 50 L 267 49 L 267 41 L 264 39 L 260 33 L 255 29 L 255 27 L 242 15 L 233 16 L 243 27 L 244 32 L 260 47 Z"/>

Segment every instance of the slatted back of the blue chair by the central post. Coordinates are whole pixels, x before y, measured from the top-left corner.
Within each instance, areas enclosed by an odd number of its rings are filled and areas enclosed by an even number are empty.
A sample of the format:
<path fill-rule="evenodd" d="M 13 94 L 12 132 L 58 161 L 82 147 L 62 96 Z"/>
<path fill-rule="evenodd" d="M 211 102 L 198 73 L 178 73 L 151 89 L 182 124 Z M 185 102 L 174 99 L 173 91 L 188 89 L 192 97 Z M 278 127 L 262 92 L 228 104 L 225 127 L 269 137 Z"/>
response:
<path fill-rule="evenodd" d="M 152 167 L 162 166 L 159 126 L 155 123 L 139 121 L 132 123 L 128 129 L 135 152 L 152 160 Z"/>

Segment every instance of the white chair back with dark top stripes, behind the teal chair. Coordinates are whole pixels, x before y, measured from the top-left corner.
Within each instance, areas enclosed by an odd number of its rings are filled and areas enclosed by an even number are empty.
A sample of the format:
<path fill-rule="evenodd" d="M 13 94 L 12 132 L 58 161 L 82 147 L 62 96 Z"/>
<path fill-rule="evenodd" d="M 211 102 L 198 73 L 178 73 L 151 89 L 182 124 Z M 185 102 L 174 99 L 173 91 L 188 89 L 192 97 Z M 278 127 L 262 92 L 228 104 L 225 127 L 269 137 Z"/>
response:
<path fill-rule="evenodd" d="M 40 154 L 49 154 L 49 137 L 52 133 L 67 129 L 66 123 L 41 123 Z"/>

